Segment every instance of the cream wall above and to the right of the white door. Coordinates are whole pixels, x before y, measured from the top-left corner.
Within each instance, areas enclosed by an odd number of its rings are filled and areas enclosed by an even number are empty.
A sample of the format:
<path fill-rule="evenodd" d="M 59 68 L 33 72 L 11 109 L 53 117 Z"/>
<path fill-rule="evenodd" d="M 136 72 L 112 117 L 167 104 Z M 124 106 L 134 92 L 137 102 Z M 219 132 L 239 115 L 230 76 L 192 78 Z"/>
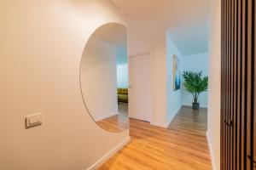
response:
<path fill-rule="evenodd" d="M 145 107 L 152 111 L 151 124 L 166 127 L 166 31 L 137 36 L 128 30 L 128 42 L 129 56 L 150 54 L 152 105 Z"/>

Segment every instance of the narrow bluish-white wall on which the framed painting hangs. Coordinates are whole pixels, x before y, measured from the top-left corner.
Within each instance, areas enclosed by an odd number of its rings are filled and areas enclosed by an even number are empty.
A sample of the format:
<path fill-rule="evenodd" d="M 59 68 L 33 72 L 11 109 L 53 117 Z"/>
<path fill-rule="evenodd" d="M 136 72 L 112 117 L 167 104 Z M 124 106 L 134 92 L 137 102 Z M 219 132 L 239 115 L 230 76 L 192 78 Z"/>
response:
<path fill-rule="evenodd" d="M 173 55 L 176 54 L 181 63 L 181 71 L 183 70 L 183 55 L 179 52 L 176 45 L 172 41 L 172 37 L 169 32 L 166 33 L 166 68 L 167 68 L 167 124 L 172 122 L 172 118 L 179 111 L 183 96 L 182 89 L 176 91 L 173 90 Z"/>

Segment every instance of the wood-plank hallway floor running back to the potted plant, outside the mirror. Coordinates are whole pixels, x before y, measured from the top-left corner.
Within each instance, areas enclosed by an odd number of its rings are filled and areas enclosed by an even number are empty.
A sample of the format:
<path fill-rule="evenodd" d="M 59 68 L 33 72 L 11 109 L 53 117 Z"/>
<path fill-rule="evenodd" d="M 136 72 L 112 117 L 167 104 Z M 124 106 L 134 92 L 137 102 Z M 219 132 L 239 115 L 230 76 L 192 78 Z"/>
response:
<path fill-rule="evenodd" d="M 131 119 L 131 142 L 98 169 L 210 170 L 206 130 L 206 109 L 182 107 L 168 128 Z"/>

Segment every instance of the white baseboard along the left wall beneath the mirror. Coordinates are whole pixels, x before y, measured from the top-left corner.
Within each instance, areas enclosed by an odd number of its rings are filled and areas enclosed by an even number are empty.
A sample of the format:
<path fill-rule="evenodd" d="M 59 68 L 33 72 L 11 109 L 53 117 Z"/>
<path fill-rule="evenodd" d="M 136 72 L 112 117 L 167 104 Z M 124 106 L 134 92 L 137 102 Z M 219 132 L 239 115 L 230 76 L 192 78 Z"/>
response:
<path fill-rule="evenodd" d="M 127 139 L 123 140 L 120 144 L 115 146 L 112 150 L 110 150 L 105 156 L 102 156 L 102 158 L 98 161 L 96 161 L 95 164 L 88 167 L 87 170 L 95 170 L 98 167 L 101 167 L 101 165 L 108 161 L 110 157 L 112 157 L 114 154 L 116 154 L 119 150 L 121 150 L 126 144 L 128 144 L 131 141 L 131 137 L 129 136 Z"/>

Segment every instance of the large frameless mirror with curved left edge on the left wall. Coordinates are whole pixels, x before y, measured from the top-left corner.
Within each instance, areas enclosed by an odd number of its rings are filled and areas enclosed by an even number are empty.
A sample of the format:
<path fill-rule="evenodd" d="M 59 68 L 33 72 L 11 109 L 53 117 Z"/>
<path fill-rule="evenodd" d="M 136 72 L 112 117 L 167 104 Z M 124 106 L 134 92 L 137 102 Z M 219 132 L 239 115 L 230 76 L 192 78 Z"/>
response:
<path fill-rule="evenodd" d="M 84 104 L 103 129 L 128 128 L 127 29 L 117 23 L 99 27 L 84 48 L 80 86 Z"/>

